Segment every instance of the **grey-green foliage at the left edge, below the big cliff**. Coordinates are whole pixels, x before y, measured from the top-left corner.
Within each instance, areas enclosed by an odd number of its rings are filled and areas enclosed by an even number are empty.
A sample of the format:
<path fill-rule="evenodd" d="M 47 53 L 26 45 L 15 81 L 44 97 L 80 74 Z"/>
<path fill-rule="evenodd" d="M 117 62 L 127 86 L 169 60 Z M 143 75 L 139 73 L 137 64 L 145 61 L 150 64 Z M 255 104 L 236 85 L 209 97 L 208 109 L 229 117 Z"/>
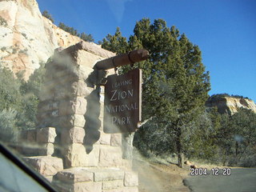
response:
<path fill-rule="evenodd" d="M 0 68 L 1 141 L 17 142 L 21 130 L 35 128 L 38 93 L 44 73 L 44 65 L 41 65 L 26 82 L 22 78 L 22 72 L 14 78 L 10 70 Z"/>

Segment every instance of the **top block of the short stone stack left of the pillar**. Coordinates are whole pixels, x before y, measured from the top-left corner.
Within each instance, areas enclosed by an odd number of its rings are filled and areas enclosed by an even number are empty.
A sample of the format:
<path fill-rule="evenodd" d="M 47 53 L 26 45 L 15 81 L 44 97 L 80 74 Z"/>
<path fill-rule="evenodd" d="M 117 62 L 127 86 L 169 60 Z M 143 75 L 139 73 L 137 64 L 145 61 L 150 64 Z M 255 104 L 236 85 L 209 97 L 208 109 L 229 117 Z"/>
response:
<path fill-rule="evenodd" d="M 56 136 L 57 134 L 54 127 L 45 127 L 37 131 L 37 140 L 41 143 L 54 143 L 54 139 Z"/>

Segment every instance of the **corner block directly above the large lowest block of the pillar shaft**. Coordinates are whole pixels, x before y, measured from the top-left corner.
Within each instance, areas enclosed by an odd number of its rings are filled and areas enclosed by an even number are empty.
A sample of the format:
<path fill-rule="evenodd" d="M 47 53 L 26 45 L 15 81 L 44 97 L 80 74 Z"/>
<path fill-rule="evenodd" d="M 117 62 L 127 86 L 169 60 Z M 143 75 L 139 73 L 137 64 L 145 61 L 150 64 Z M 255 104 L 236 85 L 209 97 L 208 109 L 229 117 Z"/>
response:
<path fill-rule="evenodd" d="M 83 143 L 83 139 L 86 135 L 84 128 L 74 126 L 71 129 L 62 130 L 62 142 L 63 143 Z"/>

